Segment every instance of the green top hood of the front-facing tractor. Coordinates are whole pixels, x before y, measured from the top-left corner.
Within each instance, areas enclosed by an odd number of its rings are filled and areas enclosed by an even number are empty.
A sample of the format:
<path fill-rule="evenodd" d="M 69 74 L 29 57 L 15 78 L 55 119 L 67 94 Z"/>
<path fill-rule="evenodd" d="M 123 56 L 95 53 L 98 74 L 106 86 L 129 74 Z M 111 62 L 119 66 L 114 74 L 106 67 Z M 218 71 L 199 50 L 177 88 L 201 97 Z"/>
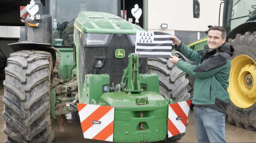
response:
<path fill-rule="evenodd" d="M 136 31 L 145 31 L 119 16 L 102 12 L 80 12 L 74 25 L 85 32 L 93 33 L 136 34 Z"/>

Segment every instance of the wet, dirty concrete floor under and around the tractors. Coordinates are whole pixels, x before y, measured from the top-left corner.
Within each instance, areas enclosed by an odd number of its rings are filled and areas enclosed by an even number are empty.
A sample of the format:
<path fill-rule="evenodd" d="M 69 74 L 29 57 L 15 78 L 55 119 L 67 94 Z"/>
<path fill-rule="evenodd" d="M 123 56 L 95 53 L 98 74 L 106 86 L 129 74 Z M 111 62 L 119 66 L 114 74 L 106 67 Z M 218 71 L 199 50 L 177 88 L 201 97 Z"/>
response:
<path fill-rule="evenodd" d="M 0 90 L 0 112 L 3 112 L 2 102 L 3 90 Z M 55 139 L 53 142 L 58 143 L 80 143 L 80 142 L 102 142 L 98 140 L 88 140 L 83 138 L 82 129 L 80 126 L 79 118 L 76 113 L 70 113 L 60 117 L 61 120 L 55 121 Z M 176 142 L 179 143 L 192 143 L 197 142 L 195 127 L 193 123 L 193 110 L 191 110 L 188 121 L 190 122 L 186 128 L 185 136 Z M 249 131 L 243 128 L 238 128 L 235 125 L 230 124 L 226 118 L 225 127 L 225 139 L 227 142 L 256 142 L 256 131 Z M 4 120 L 2 115 L 0 118 L 0 142 L 5 142 L 5 134 L 3 133 Z"/>

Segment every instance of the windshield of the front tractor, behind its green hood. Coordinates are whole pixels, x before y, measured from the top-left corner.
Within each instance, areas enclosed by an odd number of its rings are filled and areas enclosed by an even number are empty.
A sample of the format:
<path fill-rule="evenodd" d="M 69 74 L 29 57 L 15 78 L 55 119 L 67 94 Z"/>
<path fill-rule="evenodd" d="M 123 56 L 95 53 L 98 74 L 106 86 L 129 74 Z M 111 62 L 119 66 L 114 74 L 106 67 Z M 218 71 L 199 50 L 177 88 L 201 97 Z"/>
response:
<path fill-rule="evenodd" d="M 52 0 L 49 5 L 52 15 L 52 44 L 57 48 L 74 48 L 74 21 L 79 12 L 120 13 L 118 0 Z M 54 29 L 54 21 L 57 29 Z"/>

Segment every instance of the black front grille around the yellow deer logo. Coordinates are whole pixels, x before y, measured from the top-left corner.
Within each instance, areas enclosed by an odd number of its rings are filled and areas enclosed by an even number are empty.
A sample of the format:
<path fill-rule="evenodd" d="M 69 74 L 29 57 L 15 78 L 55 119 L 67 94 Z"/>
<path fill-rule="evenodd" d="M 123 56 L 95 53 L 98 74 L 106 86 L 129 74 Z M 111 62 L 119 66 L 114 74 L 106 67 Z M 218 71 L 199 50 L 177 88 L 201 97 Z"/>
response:
<path fill-rule="evenodd" d="M 110 84 L 114 85 L 121 82 L 123 70 L 128 66 L 129 53 L 135 52 L 135 47 L 132 47 L 127 35 L 119 37 L 113 34 L 110 45 L 108 47 L 99 47 L 99 48 L 83 48 L 84 52 L 81 52 L 82 62 L 81 67 L 84 67 L 82 74 L 82 86 L 84 83 L 84 77 L 86 74 L 108 74 L 110 76 Z M 124 49 L 125 57 L 124 58 L 115 58 L 115 50 Z M 95 57 L 106 57 L 105 65 L 101 69 L 93 68 L 94 58 Z M 146 73 L 146 58 L 139 59 L 139 73 Z M 82 87 L 83 88 L 83 87 Z"/>

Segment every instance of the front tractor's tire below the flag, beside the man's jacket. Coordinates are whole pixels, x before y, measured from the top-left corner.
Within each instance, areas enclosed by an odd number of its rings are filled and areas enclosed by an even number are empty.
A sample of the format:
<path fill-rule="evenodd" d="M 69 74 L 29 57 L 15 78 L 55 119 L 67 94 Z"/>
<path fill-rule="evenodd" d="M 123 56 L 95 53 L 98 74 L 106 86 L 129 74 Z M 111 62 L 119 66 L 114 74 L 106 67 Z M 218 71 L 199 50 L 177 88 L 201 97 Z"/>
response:
<path fill-rule="evenodd" d="M 159 76 L 160 94 L 163 97 L 169 97 L 174 102 L 190 99 L 186 73 L 172 64 L 169 59 L 148 58 L 147 73 Z"/>

